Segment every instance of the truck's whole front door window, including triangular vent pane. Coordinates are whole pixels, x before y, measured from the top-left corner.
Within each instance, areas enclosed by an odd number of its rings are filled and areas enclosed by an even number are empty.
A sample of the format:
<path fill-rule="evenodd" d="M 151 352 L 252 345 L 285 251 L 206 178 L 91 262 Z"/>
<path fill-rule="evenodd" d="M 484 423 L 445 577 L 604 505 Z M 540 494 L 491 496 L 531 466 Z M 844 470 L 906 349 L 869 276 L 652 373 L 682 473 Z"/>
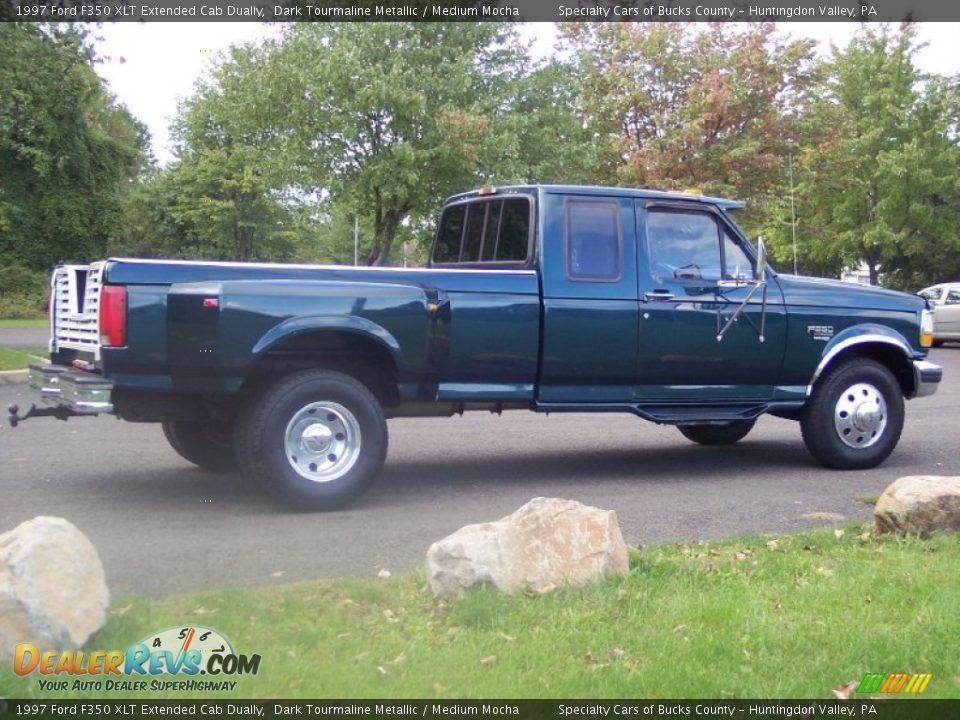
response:
<path fill-rule="evenodd" d="M 647 243 L 654 278 L 733 280 L 752 277 L 753 264 L 739 243 L 712 215 L 650 210 Z"/>

